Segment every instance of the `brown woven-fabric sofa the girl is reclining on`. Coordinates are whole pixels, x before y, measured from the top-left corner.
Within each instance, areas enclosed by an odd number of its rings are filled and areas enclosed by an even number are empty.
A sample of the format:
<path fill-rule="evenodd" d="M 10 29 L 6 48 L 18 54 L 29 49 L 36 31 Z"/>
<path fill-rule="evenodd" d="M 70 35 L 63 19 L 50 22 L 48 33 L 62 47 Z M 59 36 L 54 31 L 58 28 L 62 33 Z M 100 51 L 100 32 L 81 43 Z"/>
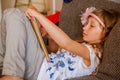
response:
<path fill-rule="evenodd" d="M 66 0 L 65 0 L 66 1 Z M 69 0 L 64 2 L 59 26 L 72 39 L 82 37 L 79 15 L 87 7 L 114 9 L 120 12 L 120 0 Z M 120 80 L 120 19 L 105 41 L 103 59 L 96 75 L 70 80 Z"/>

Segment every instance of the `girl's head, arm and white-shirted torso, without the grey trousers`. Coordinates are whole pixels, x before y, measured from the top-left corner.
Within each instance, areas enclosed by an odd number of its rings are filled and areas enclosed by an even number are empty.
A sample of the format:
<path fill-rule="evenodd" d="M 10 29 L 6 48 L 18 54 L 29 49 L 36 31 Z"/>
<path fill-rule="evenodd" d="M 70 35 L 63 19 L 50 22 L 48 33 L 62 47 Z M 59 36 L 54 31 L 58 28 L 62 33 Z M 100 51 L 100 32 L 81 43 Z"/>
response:
<path fill-rule="evenodd" d="M 104 40 L 117 21 L 114 11 L 87 8 L 81 16 L 84 27 L 83 42 L 80 43 L 72 40 L 37 10 L 28 8 L 26 15 L 30 19 L 34 16 L 62 48 L 49 55 L 50 62 L 44 60 L 38 80 L 64 80 L 92 74 L 100 62 Z"/>

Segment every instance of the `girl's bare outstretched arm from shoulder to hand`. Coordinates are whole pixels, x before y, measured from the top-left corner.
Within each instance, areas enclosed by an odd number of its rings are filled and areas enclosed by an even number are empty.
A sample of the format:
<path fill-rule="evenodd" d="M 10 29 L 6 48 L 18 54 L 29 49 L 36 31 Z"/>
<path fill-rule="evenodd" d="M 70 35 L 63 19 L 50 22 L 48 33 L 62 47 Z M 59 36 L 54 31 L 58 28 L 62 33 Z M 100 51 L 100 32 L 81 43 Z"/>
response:
<path fill-rule="evenodd" d="M 58 26 L 48 20 L 44 15 L 40 14 L 33 8 L 26 10 L 28 18 L 34 16 L 41 25 L 45 28 L 51 38 L 62 48 L 77 54 L 84 58 L 84 60 L 90 61 L 89 50 L 86 46 L 72 40 L 67 34 L 65 34 Z"/>

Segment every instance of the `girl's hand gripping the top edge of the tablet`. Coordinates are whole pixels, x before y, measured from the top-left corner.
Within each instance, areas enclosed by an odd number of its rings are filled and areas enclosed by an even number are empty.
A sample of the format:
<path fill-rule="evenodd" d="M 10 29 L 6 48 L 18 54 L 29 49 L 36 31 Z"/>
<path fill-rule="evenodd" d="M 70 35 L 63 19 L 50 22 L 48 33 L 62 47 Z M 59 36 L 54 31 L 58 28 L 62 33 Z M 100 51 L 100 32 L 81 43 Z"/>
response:
<path fill-rule="evenodd" d="M 39 15 L 39 11 L 34 7 L 30 6 L 26 11 L 25 11 L 26 16 L 31 19 L 32 17 L 37 17 Z"/>

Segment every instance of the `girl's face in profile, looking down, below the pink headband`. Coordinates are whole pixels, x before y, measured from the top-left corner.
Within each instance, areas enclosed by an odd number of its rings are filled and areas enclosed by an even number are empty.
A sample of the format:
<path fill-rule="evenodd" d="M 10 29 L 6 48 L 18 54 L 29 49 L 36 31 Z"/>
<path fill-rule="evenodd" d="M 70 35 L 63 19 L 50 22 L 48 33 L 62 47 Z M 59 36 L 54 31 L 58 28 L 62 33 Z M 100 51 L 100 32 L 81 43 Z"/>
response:
<path fill-rule="evenodd" d="M 86 25 L 83 27 L 83 40 L 88 43 L 97 43 L 103 37 L 103 29 L 100 23 L 95 18 L 89 17 Z"/>

